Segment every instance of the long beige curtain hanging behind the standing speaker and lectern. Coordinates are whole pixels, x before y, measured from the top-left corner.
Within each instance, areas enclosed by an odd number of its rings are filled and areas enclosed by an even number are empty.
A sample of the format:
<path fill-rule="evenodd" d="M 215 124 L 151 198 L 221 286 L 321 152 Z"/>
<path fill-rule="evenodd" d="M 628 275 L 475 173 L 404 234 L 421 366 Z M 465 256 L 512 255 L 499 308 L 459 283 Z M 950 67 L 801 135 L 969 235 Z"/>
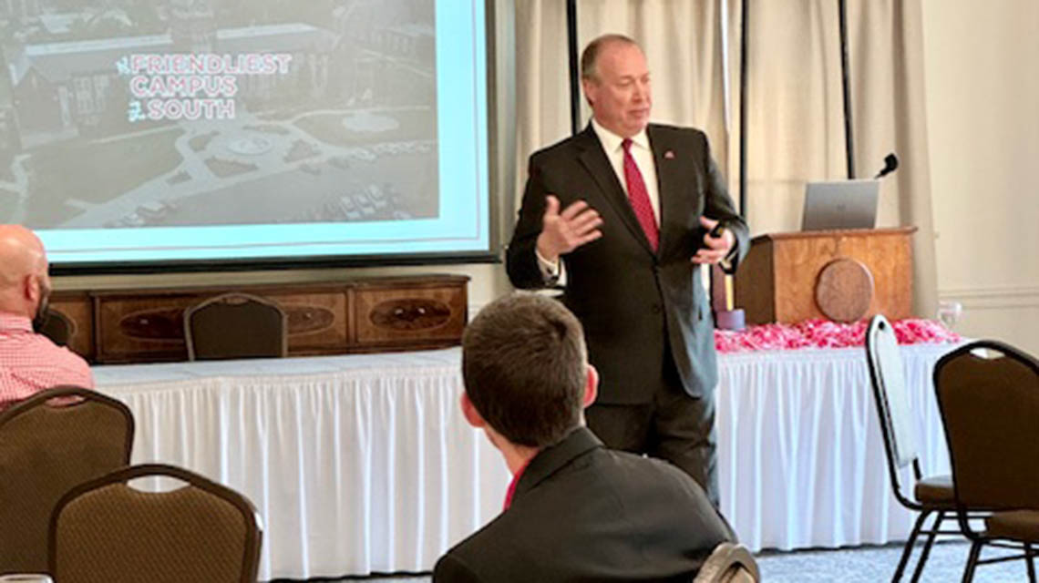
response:
<path fill-rule="evenodd" d="M 901 167 L 881 188 L 878 227 L 918 228 L 915 312 L 933 317 L 920 2 L 849 2 L 850 78 L 856 174 L 872 177 L 888 152 L 898 153 Z M 837 3 L 749 5 L 747 217 L 754 234 L 796 231 L 805 183 L 846 177 Z M 565 2 L 517 0 L 515 14 L 518 198 L 528 156 L 569 135 L 570 121 Z M 578 19 L 582 48 L 606 32 L 642 44 L 654 79 L 654 121 L 703 129 L 738 198 L 740 1 L 581 0 Z M 587 117 L 585 107 L 582 125 Z"/>

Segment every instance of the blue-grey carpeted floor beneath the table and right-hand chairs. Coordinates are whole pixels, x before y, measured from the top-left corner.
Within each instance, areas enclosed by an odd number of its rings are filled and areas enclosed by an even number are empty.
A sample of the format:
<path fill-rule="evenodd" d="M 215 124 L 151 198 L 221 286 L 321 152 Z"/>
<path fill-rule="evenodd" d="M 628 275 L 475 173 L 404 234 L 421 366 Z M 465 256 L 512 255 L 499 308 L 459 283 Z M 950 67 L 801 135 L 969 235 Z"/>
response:
<path fill-rule="evenodd" d="M 969 546 L 962 541 L 939 542 L 934 546 L 921 581 L 949 583 L 963 576 Z M 917 548 L 917 554 L 918 554 Z M 985 551 L 982 558 L 996 556 L 1000 551 Z M 757 557 L 763 581 L 766 583 L 879 583 L 890 581 L 902 554 L 901 545 L 859 547 L 854 549 L 766 552 Z M 913 555 L 915 559 L 917 555 Z M 910 562 L 909 568 L 912 568 Z M 908 581 L 911 573 L 903 577 Z M 342 581 L 357 581 L 343 579 Z M 429 577 L 376 577 L 359 579 L 379 583 L 428 583 Z M 1028 581 L 1023 561 L 1008 561 L 981 565 L 975 575 L 977 583 L 1015 583 Z"/>

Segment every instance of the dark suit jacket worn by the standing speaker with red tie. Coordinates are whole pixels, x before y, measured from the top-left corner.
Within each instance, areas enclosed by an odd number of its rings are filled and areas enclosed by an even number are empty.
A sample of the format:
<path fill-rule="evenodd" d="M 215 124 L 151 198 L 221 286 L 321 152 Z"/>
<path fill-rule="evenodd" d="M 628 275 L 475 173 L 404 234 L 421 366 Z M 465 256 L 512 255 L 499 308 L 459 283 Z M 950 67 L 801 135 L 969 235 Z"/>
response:
<path fill-rule="evenodd" d="M 600 370 L 601 403 L 647 403 L 662 378 L 665 348 L 686 392 L 709 395 L 718 380 L 714 324 L 699 266 L 700 215 L 736 235 L 732 267 L 747 253 L 748 230 L 736 213 L 702 132 L 646 128 L 660 186 L 660 247 L 655 254 L 591 126 L 530 158 L 520 219 L 506 256 L 517 288 L 543 287 L 534 255 L 545 195 L 561 208 L 584 200 L 602 215 L 603 237 L 564 257 L 563 302 L 584 325 Z"/>

